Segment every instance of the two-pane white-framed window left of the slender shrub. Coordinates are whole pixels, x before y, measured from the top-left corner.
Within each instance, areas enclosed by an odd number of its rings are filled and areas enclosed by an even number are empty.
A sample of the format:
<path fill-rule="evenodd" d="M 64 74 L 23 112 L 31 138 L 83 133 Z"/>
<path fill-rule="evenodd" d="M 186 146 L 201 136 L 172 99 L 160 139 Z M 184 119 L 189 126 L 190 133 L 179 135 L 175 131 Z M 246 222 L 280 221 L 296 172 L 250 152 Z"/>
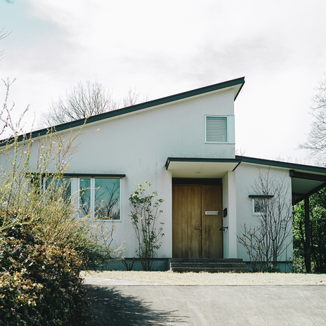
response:
<path fill-rule="evenodd" d="M 81 215 L 120 219 L 119 178 L 79 178 Z"/>

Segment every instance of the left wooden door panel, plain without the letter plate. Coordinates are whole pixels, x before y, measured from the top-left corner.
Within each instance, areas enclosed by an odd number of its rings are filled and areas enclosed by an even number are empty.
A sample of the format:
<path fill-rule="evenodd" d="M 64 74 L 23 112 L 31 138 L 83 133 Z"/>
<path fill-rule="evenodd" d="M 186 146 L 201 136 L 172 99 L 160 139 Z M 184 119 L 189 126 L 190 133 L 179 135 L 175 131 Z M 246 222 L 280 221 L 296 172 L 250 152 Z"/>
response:
<path fill-rule="evenodd" d="M 201 258 L 201 230 L 195 228 L 202 219 L 202 189 L 200 185 L 172 187 L 172 257 Z"/>

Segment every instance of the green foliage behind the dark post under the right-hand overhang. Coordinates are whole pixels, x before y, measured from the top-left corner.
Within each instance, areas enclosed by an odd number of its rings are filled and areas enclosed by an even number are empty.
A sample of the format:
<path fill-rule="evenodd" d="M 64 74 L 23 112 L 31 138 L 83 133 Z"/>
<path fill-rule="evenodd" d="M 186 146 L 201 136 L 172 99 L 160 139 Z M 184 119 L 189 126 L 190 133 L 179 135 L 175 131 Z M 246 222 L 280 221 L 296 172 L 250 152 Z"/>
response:
<path fill-rule="evenodd" d="M 311 228 L 311 270 L 314 273 L 326 273 L 326 190 L 320 190 L 309 197 L 310 228 Z M 306 228 L 304 202 L 294 208 L 293 245 L 294 271 L 306 272 L 305 258 Z"/>

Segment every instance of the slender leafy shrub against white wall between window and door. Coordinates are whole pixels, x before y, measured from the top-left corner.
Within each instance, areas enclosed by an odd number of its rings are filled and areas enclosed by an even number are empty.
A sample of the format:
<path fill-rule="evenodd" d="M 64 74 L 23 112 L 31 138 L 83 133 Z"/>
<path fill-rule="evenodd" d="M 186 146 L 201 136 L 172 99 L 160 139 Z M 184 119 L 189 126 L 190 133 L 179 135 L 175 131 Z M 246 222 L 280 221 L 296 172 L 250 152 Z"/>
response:
<path fill-rule="evenodd" d="M 141 266 L 143 270 L 152 270 L 152 258 L 155 256 L 155 252 L 161 247 L 159 240 L 164 236 L 163 224 L 157 229 L 155 223 L 162 214 L 162 210 L 159 209 L 163 200 L 158 199 L 155 191 L 152 194 L 148 194 L 148 188 L 150 188 L 150 182 L 145 181 L 145 186 L 138 185 L 135 193 L 129 197 L 129 203 L 131 206 L 131 223 L 133 229 L 136 232 L 138 240 L 137 255 L 141 259 Z"/>

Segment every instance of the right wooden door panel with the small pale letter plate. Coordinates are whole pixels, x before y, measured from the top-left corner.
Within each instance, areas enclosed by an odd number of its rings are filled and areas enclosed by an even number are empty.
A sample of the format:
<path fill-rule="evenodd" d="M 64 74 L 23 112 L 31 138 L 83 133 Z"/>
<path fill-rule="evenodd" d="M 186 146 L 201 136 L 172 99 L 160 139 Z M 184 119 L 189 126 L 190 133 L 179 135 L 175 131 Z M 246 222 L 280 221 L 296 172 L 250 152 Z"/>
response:
<path fill-rule="evenodd" d="M 223 258 L 221 185 L 202 185 L 202 258 Z M 219 211 L 208 215 L 206 211 Z"/>

